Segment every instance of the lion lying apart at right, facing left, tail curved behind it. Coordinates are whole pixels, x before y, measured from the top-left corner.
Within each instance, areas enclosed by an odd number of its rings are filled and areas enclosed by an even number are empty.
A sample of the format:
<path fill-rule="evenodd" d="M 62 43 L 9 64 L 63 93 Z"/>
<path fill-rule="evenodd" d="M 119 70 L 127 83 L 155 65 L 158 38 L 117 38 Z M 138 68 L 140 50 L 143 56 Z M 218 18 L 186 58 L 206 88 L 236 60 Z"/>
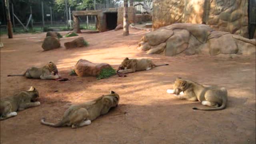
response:
<path fill-rule="evenodd" d="M 191 80 L 176 78 L 174 89 L 168 89 L 167 93 L 175 94 L 179 99 L 202 102 L 204 106 L 213 108 L 196 108 L 194 110 L 223 110 L 227 106 L 228 92 L 226 88 L 216 88 L 201 85 Z"/>

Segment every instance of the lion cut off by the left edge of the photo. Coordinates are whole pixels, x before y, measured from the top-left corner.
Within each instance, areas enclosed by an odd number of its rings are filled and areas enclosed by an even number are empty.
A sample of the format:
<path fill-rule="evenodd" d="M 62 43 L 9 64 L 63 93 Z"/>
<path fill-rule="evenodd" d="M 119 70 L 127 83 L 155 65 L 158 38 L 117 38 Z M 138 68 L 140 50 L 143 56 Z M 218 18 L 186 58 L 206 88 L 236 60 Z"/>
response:
<path fill-rule="evenodd" d="M 40 102 L 36 102 L 39 94 L 33 86 L 29 90 L 22 91 L 0 100 L 0 120 L 5 120 L 13 116 L 17 116 L 17 111 L 24 110 L 33 106 L 40 106 Z"/>

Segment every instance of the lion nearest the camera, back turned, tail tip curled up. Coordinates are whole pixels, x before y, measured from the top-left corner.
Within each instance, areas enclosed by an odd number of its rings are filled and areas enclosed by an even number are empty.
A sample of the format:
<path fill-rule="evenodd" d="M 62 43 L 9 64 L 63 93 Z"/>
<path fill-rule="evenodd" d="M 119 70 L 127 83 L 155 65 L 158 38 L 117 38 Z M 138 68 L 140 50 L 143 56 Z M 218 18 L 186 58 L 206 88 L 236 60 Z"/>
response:
<path fill-rule="evenodd" d="M 102 95 L 95 100 L 70 106 L 64 112 L 62 120 L 56 124 L 45 122 L 45 118 L 42 118 L 41 124 L 52 127 L 71 126 L 72 128 L 87 126 L 100 115 L 108 113 L 110 108 L 116 107 L 118 102 L 119 95 L 110 91 L 110 94 Z"/>

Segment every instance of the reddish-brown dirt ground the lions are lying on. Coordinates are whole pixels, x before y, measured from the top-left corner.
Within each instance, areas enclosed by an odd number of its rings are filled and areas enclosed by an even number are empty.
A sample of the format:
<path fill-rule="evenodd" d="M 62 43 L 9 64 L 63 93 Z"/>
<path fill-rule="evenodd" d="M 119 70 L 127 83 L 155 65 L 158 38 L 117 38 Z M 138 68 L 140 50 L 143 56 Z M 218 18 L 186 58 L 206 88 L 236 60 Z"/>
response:
<path fill-rule="evenodd" d="M 66 50 L 64 42 L 74 37 L 62 38 L 62 48 L 48 52 L 41 48 L 46 33 L 18 34 L 13 39 L 1 36 L 1 98 L 34 86 L 41 102 L 41 106 L 0 122 L 1 144 L 255 144 L 255 56 L 148 55 L 136 49 L 144 33 L 130 29 L 125 37 L 122 30 L 80 34 L 90 46 Z M 125 78 L 69 76 L 80 58 L 118 68 L 125 57 L 151 58 L 156 64 L 170 65 L 127 74 Z M 59 74 L 70 80 L 7 77 L 48 61 L 54 61 Z M 166 93 L 176 77 L 226 87 L 228 107 L 212 112 L 192 110 L 203 106 Z M 93 100 L 110 90 L 120 95 L 119 106 L 89 126 L 72 129 L 40 124 L 42 117 L 47 122 L 58 122 L 70 104 Z"/>

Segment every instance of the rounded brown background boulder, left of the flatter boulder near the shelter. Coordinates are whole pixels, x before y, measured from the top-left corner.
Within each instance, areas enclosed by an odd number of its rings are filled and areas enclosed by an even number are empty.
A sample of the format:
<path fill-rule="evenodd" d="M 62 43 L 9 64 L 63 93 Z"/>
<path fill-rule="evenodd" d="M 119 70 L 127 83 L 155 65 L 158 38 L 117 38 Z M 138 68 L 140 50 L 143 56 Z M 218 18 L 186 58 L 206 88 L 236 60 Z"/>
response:
<path fill-rule="evenodd" d="M 60 40 L 55 37 L 47 36 L 44 39 L 44 42 L 42 44 L 42 48 L 44 50 L 52 50 L 55 48 L 60 48 Z"/>

